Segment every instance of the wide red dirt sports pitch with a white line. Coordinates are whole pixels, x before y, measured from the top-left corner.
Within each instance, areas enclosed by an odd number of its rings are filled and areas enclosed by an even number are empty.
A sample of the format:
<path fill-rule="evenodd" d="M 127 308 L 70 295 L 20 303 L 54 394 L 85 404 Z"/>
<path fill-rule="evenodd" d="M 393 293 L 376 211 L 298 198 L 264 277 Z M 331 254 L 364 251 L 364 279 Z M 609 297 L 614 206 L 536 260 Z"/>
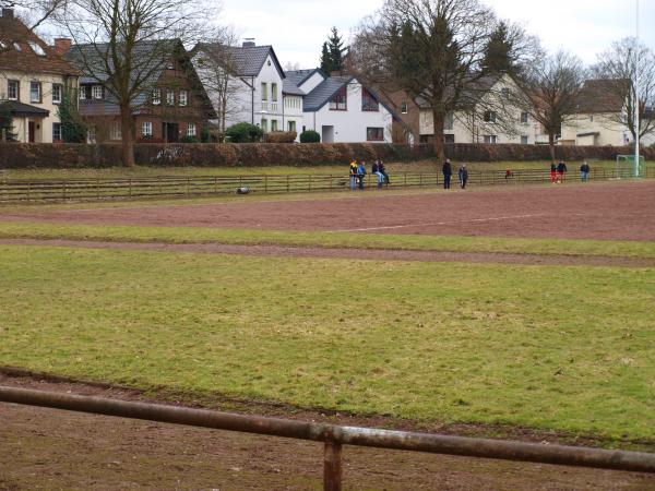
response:
<path fill-rule="evenodd" d="M 367 233 L 655 240 L 655 181 L 0 214 L 3 220 Z"/>

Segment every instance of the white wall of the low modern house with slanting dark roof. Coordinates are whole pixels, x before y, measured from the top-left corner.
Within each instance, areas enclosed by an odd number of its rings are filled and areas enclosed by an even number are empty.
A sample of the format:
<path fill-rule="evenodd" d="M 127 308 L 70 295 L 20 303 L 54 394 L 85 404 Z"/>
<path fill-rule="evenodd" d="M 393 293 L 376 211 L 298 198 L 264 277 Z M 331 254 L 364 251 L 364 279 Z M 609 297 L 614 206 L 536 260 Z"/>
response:
<path fill-rule="evenodd" d="M 323 127 L 334 127 L 334 143 L 360 143 L 367 141 L 367 128 L 382 128 L 384 142 L 392 142 L 393 117 L 381 104 L 379 111 L 361 110 L 361 85 L 348 84 L 348 110 L 330 110 L 330 103 L 320 110 L 305 112 L 303 125 L 322 134 Z"/>

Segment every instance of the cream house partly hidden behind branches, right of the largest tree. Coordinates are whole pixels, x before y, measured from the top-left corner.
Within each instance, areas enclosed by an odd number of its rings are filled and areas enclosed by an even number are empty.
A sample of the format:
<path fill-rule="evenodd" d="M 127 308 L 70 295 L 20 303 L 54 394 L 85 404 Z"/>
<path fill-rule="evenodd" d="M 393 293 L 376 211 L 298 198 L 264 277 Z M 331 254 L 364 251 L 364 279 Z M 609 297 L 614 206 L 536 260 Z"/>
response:
<path fill-rule="evenodd" d="M 511 94 L 514 91 L 520 88 L 507 74 L 481 79 L 471 97 L 479 98 L 480 103 L 468 111 L 457 111 L 445 118 L 445 143 L 537 143 L 543 134 L 541 125 L 528 112 L 512 105 Z M 416 104 L 420 108 L 420 143 L 432 143 L 431 106 L 422 97 L 418 97 Z"/>

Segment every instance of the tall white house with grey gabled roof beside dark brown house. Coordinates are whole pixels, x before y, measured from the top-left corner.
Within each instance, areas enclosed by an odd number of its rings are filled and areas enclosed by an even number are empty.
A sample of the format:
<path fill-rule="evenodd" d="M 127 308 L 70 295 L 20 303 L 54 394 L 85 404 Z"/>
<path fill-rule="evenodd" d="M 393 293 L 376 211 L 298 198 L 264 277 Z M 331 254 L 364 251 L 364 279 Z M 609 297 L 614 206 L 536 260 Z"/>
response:
<path fill-rule="evenodd" d="M 239 123 L 272 131 L 298 131 L 305 93 L 286 81 L 272 46 L 201 44 L 193 63 L 218 118 L 219 133 Z"/>

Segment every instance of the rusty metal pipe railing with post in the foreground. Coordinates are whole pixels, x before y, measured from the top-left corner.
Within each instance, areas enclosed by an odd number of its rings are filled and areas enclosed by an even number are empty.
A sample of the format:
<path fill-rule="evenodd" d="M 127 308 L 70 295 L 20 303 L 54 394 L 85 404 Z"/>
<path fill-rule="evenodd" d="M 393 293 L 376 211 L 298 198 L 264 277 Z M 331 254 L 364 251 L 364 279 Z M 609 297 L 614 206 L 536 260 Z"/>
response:
<path fill-rule="evenodd" d="M 655 454 L 338 427 L 0 386 L 0 402 L 324 442 L 323 488 L 342 489 L 343 445 L 655 474 Z"/>

